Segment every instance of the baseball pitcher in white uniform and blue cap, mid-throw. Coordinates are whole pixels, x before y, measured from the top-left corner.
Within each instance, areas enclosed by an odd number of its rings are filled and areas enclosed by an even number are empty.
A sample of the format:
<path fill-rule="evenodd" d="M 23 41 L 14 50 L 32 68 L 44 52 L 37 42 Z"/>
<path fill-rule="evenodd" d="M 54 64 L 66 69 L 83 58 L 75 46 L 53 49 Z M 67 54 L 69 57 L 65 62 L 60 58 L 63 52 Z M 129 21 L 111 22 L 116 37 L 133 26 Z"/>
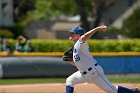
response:
<path fill-rule="evenodd" d="M 78 71 L 69 76 L 66 80 L 66 93 L 73 93 L 74 85 L 88 82 L 94 83 L 107 93 L 139 93 L 138 89 L 131 90 L 122 86 L 114 86 L 106 78 L 102 67 L 89 52 L 86 42 L 97 31 L 105 32 L 106 26 L 98 26 L 86 33 L 80 26 L 72 27 L 69 39 L 75 42 L 74 46 L 68 49 L 63 56 L 63 60 L 74 64 Z"/>

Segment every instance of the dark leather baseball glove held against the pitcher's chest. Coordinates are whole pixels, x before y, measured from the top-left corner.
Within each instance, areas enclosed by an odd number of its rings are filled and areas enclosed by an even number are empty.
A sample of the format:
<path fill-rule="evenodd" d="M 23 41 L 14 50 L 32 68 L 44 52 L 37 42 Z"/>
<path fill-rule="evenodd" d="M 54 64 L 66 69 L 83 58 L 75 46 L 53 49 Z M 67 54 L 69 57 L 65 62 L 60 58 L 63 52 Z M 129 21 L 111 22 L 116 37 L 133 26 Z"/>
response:
<path fill-rule="evenodd" d="M 64 61 L 73 61 L 73 46 L 71 48 L 68 48 L 64 52 L 63 60 Z"/>

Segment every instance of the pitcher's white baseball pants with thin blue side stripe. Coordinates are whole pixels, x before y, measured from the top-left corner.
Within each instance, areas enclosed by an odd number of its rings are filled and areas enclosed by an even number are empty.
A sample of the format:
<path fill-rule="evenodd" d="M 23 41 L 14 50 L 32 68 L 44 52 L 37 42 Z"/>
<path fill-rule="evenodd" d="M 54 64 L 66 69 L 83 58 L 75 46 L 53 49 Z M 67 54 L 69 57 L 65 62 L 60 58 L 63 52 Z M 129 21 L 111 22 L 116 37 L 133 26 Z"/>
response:
<path fill-rule="evenodd" d="M 111 82 L 106 78 L 102 67 L 97 65 L 92 68 L 94 68 L 94 70 L 87 74 L 82 74 L 80 71 L 73 73 L 67 78 L 66 86 L 74 87 L 76 84 L 88 82 L 96 84 L 107 93 L 117 93 L 118 86 L 113 86 L 111 84 Z"/>

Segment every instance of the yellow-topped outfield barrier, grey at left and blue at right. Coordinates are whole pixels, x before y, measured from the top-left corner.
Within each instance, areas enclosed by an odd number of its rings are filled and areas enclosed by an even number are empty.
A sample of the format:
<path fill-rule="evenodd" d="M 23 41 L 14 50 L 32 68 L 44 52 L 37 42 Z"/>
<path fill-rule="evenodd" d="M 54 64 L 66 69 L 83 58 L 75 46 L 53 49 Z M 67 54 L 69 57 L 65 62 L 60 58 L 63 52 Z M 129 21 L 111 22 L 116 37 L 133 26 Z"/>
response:
<path fill-rule="evenodd" d="M 139 52 L 92 53 L 106 74 L 140 74 Z M 0 78 L 66 77 L 77 71 L 62 52 L 0 53 Z"/>

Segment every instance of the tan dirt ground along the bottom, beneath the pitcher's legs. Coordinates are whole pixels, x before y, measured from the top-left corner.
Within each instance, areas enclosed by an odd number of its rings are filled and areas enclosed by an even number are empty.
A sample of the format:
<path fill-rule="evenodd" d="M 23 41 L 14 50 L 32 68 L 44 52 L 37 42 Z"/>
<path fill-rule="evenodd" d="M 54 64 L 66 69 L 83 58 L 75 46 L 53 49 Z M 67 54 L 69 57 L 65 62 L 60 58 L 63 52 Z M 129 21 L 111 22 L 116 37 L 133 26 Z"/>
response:
<path fill-rule="evenodd" d="M 140 84 L 122 84 L 129 88 L 138 87 Z M 24 84 L 24 85 L 1 85 L 0 93 L 65 93 L 65 84 Z M 94 84 L 79 84 L 75 86 L 75 93 L 105 93 Z"/>

